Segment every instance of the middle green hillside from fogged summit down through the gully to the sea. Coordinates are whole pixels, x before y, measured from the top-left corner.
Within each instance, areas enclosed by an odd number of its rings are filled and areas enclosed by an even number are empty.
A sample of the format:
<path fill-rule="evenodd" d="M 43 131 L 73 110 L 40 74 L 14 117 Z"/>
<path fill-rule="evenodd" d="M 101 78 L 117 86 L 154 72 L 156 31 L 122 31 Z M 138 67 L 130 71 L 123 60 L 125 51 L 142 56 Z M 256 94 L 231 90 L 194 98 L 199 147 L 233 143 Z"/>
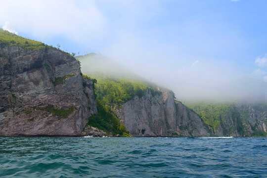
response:
<path fill-rule="evenodd" d="M 150 84 L 134 75 L 105 56 L 90 53 L 77 56 L 81 63 L 83 77 L 94 80 L 94 93 L 98 114 L 89 118 L 89 125 L 106 133 L 130 136 L 129 132 L 114 112 L 114 108 L 131 100 L 142 97 L 145 91 L 154 96 L 161 94 L 154 84 Z"/>

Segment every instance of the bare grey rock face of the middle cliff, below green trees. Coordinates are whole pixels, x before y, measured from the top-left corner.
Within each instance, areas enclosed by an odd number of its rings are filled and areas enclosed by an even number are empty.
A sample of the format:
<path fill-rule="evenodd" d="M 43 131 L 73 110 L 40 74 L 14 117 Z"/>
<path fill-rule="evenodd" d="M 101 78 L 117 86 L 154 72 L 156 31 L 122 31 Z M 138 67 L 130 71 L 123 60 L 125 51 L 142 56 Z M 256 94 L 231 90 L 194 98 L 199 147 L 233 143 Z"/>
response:
<path fill-rule="evenodd" d="M 133 136 L 209 136 L 203 120 L 191 109 L 175 102 L 173 91 L 162 89 L 153 96 L 144 95 L 115 110 L 121 123 Z"/>

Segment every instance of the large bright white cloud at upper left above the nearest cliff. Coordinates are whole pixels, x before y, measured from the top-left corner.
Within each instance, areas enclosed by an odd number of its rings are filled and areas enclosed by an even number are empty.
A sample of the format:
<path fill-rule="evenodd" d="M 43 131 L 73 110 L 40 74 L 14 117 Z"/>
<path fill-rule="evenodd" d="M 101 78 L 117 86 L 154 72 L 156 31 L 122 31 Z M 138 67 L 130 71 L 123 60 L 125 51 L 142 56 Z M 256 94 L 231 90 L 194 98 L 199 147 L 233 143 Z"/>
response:
<path fill-rule="evenodd" d="M 107 24 L 91 0 L 2 0 L 0 24 L 6 21 L 40 41 L 65 36 L 79 43 L 101 37 Z"/>

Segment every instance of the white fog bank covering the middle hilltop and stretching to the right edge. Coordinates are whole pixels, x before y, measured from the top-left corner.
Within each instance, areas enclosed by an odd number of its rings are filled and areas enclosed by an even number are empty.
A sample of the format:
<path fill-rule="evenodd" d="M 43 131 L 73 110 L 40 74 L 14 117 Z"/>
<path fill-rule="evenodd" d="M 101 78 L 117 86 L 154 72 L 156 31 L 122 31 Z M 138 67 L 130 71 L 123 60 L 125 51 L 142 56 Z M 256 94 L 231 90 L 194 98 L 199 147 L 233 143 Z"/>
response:
<path fill-rule="evenodd" d="M 164 66 L 136 63 L 133 59 L 114 60 L 102 54 L 77 57 L 82 63 L 82 72 L 91 77 L 127 78 L 159 87 L 172 89 L 182 102 L 266 102 L 267 83 L 243 76 L 222 68 L 203 67 L 199 61 L 190 68 L 167 71 Z M 127 65 L 129 61 L 130 64 Z M 157 68 L 156 68 L 157 67 Z M 225 66 L 224 66 L 225 67 Z M 170 66 L 168 69 L 171 69 Z"/>

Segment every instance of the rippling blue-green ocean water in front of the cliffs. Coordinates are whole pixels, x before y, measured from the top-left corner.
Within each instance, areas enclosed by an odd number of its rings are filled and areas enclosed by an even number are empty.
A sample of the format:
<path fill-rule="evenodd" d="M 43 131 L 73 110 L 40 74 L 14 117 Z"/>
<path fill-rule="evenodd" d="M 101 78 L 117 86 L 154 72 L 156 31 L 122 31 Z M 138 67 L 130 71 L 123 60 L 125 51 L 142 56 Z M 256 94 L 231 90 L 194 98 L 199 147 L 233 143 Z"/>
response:
<path fill-rule="evenodd" d="M 0 177 L 267 178 L 267 138 L 0 137 Z"/>

